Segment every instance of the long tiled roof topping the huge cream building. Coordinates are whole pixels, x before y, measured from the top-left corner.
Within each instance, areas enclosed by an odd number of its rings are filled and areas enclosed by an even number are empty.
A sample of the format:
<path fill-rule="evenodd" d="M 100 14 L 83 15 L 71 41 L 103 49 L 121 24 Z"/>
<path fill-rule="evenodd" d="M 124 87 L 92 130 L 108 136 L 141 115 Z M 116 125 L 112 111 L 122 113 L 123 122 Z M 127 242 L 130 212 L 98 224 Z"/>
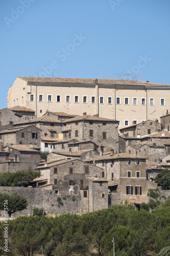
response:
<path fill-rule="evenodd" d="M 91 78 L 64 78 L 64 77 L 23 77 L 18 78 L 27 82 L 44 82 L 44 83 L 87 83 L 87 84 L 113 84 L 113 85 L 127 85 L 127 86 L 169 86 L 168 84 L 142 82 L 134 80 L 120 80 L 120 79 L 91 79 Z"/>

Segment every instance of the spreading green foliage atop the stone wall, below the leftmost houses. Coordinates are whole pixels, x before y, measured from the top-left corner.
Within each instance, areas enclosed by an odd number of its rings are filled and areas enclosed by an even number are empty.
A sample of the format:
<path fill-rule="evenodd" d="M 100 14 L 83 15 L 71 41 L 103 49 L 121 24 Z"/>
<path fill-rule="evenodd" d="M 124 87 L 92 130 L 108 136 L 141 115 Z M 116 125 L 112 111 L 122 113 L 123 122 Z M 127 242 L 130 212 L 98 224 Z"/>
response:
<path fill-rule="evenodd" d="M 30 181 L 41 176 L 40 171 L 18 170 L 15 173 L 0 174 L 0 186 L 29 186 Z"/>

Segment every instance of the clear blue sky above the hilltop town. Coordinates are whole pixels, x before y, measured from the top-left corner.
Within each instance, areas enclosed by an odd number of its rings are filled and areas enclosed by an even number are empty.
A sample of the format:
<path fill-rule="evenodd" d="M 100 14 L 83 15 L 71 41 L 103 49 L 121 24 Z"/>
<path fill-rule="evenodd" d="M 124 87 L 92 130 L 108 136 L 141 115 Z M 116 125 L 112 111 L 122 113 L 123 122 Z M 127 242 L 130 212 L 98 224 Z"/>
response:
<path fill-rule="evenodd" d="M 170 84 L 169 0 L 1 0 L 0 9 L 0 109 L 17 76 L 131 73 Z"/>

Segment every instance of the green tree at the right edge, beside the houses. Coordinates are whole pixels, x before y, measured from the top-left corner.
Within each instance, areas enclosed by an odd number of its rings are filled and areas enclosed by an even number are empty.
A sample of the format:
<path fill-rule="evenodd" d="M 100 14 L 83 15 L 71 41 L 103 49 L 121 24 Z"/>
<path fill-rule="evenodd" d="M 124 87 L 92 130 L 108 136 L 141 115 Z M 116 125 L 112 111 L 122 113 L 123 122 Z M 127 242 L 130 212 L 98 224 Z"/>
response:
<path fill-rule="evenodd" d="M 162 172 L 155 177 L 155 182 L 163 189 L 170 189 L 170 170 L 162 170 Z"/>

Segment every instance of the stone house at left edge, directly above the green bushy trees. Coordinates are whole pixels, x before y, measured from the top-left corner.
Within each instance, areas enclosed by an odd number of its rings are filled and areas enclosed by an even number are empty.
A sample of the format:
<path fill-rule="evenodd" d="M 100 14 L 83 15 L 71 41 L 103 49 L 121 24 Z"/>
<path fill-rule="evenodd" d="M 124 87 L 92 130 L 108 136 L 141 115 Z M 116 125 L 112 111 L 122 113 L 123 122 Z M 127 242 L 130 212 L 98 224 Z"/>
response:
<path fill-rule="evenodd" d="M 15 144 L 4 150 L 1 145 L 0 156 L 0 173 L 35 169 L 40 162 L 40 148 L 35 145 Z"/>

